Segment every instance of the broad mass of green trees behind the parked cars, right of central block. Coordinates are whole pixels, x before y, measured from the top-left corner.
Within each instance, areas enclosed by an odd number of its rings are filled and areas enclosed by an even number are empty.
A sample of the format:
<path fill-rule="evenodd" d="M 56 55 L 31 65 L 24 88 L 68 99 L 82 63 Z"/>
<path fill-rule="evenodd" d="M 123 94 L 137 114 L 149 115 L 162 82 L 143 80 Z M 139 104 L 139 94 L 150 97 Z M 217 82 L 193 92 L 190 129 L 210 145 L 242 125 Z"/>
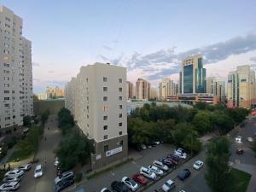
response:
<path fill-rule="evenodd" d="M 224 135 L 247 116 L 247 109 L 229 109 L 199 102 L 194 108 L 170 108 L 145 104 L 128 117 L 129 143 L 135 147 L 155 140 L 182 145 L 191 152 L 200 150 L 198 137 L 217 131 Z"/>

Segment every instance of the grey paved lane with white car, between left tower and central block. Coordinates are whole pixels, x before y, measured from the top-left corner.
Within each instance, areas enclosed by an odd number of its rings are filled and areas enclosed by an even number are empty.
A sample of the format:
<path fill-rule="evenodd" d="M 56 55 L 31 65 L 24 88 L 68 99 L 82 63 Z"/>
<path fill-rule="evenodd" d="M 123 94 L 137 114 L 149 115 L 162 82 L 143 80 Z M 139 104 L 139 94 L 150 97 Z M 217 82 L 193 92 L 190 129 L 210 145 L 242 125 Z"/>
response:
<path fill-rule="evenodd" d="M 49 130 L 47 129 L 48 127 Z M 38 164 L 33 164 L 32 169 L 25 173 L 25 177 L 23 177 L 20 182 L 20 189 L 18 190 L 20 192 L 54 191 L 54 179 L 56 177 L 54 151 L 61 139 L 61 131 L 58 130 L 57 121 L 53 115 L 49 116 L 49 119 L 45 124 L 44 137 L 46 137 L 46 141 L 43 138 L 40 142 L 38 154 L 36 154 L 35 158 L 38 159 Z M 46 165 L 44 163 L 44 158 L 46 158 Z M 39 164 L 43 166 L 44 175 L 42 177 L 34 178 L 34 169 Z"/>

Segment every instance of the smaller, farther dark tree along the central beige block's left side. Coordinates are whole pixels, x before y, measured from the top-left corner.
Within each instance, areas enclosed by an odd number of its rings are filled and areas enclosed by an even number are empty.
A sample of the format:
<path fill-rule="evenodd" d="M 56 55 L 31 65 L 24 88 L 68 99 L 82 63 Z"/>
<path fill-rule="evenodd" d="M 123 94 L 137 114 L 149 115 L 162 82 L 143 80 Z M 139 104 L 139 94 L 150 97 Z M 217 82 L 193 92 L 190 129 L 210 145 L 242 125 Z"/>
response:
<path fill-rule="evenodd" d="M 72 130 L 74 125 L 73 115 L 67 108 L 61 108 L 59 111 L 58 123 L 63 135 Z"/>

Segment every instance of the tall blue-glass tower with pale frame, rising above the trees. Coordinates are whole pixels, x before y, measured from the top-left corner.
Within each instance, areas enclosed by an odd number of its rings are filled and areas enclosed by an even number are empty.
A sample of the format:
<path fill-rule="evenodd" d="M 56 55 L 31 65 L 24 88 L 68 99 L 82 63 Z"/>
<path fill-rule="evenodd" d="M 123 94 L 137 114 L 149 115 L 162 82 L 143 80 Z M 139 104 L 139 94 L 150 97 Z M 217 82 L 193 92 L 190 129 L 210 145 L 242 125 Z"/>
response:
<path fill-rule="evenodd" d="M 182 62 L 182 94 L 206 93 L 206 69 L 203 68 L 202 55 L 192 55 Z"/>

